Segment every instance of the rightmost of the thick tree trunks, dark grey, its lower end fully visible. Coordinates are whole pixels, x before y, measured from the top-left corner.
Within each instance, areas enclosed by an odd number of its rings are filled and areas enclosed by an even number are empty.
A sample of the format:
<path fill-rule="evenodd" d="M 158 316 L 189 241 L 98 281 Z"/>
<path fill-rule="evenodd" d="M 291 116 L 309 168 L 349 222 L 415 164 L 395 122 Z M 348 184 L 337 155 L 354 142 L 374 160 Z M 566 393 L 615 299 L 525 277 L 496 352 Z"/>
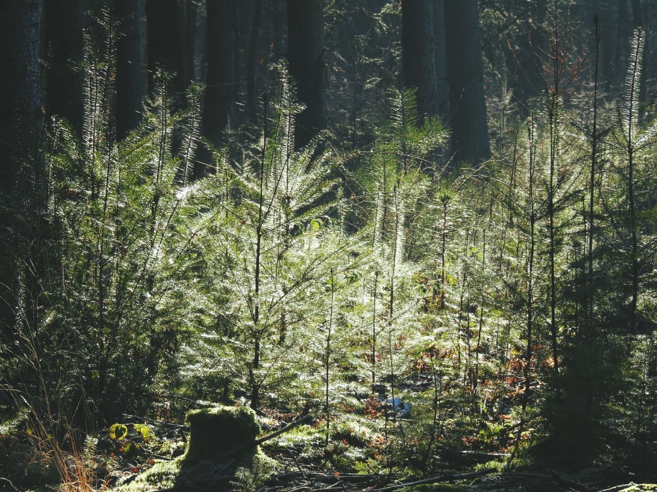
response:
<path fill-rule="evenodd" d="M 459 162 L 490 157 L 477 0 L 445 2 L 452 150 Z"/>

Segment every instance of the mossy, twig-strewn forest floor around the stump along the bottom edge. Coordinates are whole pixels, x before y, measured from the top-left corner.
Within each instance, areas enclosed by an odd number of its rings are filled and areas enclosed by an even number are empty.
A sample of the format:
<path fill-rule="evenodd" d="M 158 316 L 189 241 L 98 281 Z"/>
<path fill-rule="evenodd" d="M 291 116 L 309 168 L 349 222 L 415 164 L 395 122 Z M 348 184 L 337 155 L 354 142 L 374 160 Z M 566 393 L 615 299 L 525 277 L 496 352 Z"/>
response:
<path fill-rule="evenodd" d="M 265 437 L 253 453 L 190 465 L 185 462 L 188 426 L 134 415 L 124 417 L 125 422 L 145 423 L 114 424 L 95 437 L 87 437 L 79 453 L 49 448 L 48 440 L 39 438 L 26 420 L 5 420 L 0 426 L 0 490 L 657 491 L 657 485 L 635 485 L 631 476 L 611 464 L 587 469 L 539 468 L 535 463 L 509 467 L 510 453 L 447 453 L 430 472 L 422 473 L 417 466 L 396 461 L 401 460 L 398 450 L 394 453 L 382 440 L 372 440 L 353 421 L 348 433 L 344 428 L 333 428 L 327 443 L 325 422 L 310 416 L 292 428 L 286 427 L 284 420 L 261 418 Z M 294 419 L 287 416 L 287 420 Z M 282 428 L 284 432 L 279 434 Z M 373 447 L 378 449 L 373 451 Z M 368 454 L 374 459 L 365 459 Z"/>

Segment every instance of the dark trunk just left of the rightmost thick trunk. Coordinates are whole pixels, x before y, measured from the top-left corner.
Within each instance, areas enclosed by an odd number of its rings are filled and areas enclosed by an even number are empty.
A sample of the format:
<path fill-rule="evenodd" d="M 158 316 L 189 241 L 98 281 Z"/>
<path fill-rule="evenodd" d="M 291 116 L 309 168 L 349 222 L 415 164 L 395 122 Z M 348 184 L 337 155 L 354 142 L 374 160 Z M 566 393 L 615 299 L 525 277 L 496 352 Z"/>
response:
<path fill-rule="evenodd" d="M 401 3 L 401 47 L 404 83 L 417 89 L 420 121 L 438 115 L 436 37 L 433 0 Z"/>

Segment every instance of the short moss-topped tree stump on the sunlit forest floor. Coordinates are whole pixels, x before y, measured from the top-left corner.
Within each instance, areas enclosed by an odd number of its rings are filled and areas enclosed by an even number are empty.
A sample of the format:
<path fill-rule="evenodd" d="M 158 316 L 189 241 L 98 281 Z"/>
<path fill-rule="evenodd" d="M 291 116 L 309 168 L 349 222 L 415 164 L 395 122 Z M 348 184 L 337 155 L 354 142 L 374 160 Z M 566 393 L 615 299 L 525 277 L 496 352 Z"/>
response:
<path fill-rule="evenodd" d="M 188 464 L 219 461 L 231 453 L 253 454 L 260 426 L 256 414 L 247 407 L 215 407 L 187 413 L 190 425 Z"/>

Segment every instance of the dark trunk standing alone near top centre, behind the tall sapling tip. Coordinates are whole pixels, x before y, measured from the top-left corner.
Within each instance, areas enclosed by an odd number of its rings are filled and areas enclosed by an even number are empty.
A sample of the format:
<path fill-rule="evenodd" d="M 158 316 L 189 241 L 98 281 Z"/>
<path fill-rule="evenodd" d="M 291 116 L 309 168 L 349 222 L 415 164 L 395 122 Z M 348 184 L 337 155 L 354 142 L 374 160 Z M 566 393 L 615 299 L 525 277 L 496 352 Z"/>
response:
<path fill-rule="evenodd" d="M 297 98 L 306 110 L 296 120 L 295 145 L 324 128 L 324 17 L 321 0 L 288 0 L 288 62 Z"/>

